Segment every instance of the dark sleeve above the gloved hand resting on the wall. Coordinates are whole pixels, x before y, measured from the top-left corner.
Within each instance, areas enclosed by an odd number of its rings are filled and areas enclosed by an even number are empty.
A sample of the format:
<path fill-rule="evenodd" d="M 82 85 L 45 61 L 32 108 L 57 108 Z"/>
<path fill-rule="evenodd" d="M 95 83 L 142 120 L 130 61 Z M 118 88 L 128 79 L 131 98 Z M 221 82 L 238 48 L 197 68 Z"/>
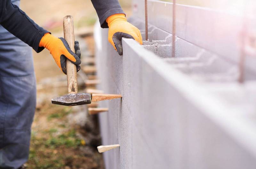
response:
<path fill-rule="evenodd" d="M 118 0 L 91 0 L 100 19 L 100 26 L 108 28 L 106 19 L 116 13 L 124 13 Z"/>

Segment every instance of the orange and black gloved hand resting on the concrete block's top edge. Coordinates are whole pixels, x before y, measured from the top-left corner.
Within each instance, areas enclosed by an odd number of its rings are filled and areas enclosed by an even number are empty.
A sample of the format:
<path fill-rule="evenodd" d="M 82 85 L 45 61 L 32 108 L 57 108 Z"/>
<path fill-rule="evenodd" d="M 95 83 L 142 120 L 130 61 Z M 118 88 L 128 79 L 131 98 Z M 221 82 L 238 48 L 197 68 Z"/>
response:
<path fill-rule="evenodd" d="M 108 41 L 119 55 L 123 55 L 122 37 L 131 38 L 142 44 L 140 30 L 127 22 L 124 14 L 114 14 L 106 19 L 108 23 Z"/>

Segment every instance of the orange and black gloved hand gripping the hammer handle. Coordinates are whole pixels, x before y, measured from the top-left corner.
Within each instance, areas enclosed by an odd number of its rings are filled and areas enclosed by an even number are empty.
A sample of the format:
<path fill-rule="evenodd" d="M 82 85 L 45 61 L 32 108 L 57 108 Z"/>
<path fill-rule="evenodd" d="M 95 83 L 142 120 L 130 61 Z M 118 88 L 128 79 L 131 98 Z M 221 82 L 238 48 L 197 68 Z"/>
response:
<path fill-rule="evenodd" d="M 61 68 L 62 72 L 67 74 L 66 60 L 67 58 L 76 65 L 76 71 L 78 72 L 81 67 L 81 51 L 79 43 L 75 42 L 75 51 L 72 52 L 68 46 L 68 42 L 64 38 L 57 38 L 49 33 L 45 34 L 40 43 L 39 47 L 45 47 L 50 51 L 56 64 Z"/>

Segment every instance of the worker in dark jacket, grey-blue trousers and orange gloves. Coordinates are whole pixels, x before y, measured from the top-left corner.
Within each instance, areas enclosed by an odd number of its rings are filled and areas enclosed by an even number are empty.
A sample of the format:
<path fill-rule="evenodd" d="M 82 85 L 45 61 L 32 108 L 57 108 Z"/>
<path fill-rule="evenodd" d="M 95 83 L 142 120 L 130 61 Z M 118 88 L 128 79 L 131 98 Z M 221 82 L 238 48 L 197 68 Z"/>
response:
<path fill-rule="evenodd" d="M 73 53 L 63 38 L 51 35 L 19 9 L 20 0 L 0 1 L 0 168 L 18 169 L 28 160 L 31 124 L 36 108 L 32 47 L 47 48 L 66 73 L 66 59 L 81 63 L 79 44 Z M 128 23 L 117 0 L 92 0 L 108 40 L 123 54 L 122 37 L 142 44 L 139 29 Z M 30 47 L 29 47 L 29 46 Z"/>

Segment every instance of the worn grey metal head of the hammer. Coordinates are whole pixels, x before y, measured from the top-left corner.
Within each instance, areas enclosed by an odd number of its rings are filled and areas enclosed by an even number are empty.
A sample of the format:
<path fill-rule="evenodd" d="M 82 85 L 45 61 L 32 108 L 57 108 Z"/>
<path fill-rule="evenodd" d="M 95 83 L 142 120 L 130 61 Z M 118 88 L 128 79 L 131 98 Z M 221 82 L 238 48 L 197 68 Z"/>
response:
<path fill-rule="evenodd" d="M 59 104 L 65 106 L 77 106 L 82 104 L 91 104 L 90 93 L 70 93 L 64 96 L 52 99 L 52 104 Z"/>

